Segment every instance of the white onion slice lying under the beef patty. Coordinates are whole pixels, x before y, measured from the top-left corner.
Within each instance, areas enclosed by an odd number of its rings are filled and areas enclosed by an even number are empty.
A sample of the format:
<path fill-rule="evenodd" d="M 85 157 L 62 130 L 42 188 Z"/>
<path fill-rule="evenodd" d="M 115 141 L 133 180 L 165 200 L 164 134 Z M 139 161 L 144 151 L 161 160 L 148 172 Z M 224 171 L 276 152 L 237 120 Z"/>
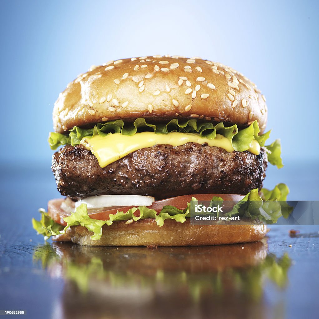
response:
<path fill-rule="evenodd" d="M 141 195 L 100 195 L 81 199 L 75 203 L 75 207 L 86 204 L 88 209 L 113 207 L 113 206 L 150 206 L 154 203 L 154 197 Z"/>

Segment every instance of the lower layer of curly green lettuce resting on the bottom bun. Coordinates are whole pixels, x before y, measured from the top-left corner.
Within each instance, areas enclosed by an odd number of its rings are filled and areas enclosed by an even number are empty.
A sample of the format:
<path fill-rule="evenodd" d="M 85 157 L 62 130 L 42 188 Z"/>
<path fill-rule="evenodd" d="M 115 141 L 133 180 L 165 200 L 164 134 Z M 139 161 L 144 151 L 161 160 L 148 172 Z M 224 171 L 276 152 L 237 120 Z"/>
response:
<path fill-rule="evenodd" d="M 262 189 L 261 195 L 259 195 L 258 189 L 253 189 L 225 215 L 259 219 L 268 224 L 276 223 L 278 218 L 281 216 L 287 218 L 292 211 L 292 208 L 286 203 L 288 192 L 289 189 L 285 184 L 278 184 L 273 190 Z M 192 197 L 191 201 L 197 201 L 197 199 Z M 221 205 L 222 201 L 222 198 L 214 197 L 210 205 Z M 38 234 L 44 236 L 45 240 L 52 235 L 64 234 L 69 227 L 78 225 L 87 228 L 93 233 L 90 237 L 92 240 L 98 240 L 102 236 L 102 226 L 110 226 L 113 222 L 119 220 L 133 219 L 138 221 L 140 219 L 154 218 L 159 227 L 164 225 L 166 219 L 172 219 L 183 224 L 186 218 L 191 217 L 190 210 L 191 202 L 183 210 L 170 205 L 164 206 L 159 214 L 148 207 L 138 206 L 131 208 L 127 212 L 117 211 L 116 214 L 110 214 L 108 220 L 100 220 L 90 218 L 86 204 L 81 204 L 74 212 L 71 212 L 70 216 L 63 218 L 67 223 L 65 227 L 51 219 L 43 209 L 39 210 L 41 213 L 40 221 L 32 219 L 32 224 Z M 135 214 L 136 211 L 138 211 L 137 214 Z"/>

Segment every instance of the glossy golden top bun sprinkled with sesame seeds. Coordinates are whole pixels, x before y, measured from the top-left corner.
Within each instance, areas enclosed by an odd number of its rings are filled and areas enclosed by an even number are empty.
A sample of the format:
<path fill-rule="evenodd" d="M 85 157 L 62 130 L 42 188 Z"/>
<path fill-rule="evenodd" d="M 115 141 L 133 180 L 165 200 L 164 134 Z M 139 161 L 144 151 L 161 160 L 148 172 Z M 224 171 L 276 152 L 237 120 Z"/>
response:
<path fill-rule="evenodd" d="M 60 93 L 54 130 L 138 117 L 267 124 L 266 99 L 243 74 L 198 57 L 142 56 L 92 66 Z"/>

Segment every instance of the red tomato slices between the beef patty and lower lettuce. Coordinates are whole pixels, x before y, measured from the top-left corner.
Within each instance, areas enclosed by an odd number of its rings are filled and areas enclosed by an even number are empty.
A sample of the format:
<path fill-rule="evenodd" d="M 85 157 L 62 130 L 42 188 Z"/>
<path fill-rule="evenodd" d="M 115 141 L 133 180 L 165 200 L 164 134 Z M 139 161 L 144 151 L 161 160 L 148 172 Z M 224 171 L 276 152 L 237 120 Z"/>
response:
<path fill-rule="evenodd" d="M 222 197 L 224 201 L 240 201 L 245 196 L 244 195 L 234 195 L 234 194 L 194 194 L 194 195 L 183 195 L 176 196 L 166 199 L 161 199 L 154 202 L 151 206 L 148 206 L 149 209 L 154 209 L 158 213 L 162 210 L 163 206 L 174 206 L 178 209 L 184 209 L 187 207 L 187 203 L 191 201 L 192 197 L 195 197 L 199 201 L 210 201 L 214 196 Z M 51 218 L 56 221 L 58 224 L 66 226 L 66 222 L 63 220 L 63 217 L 70 216 L 70 212 L 65 211 L 61 208 L 61 204 L 65 201 L 64 198 L 52 199 L 48 203 L 48 214 Z M 110 214 L 116 214 L 117 211 L 127 212 L 134 206 L 125 206 L 117 207 L 115 209 L 108 209 L 105 211 L 98 212 L 89 212 L 90 218 L 108 220 L 110 219 Z M 139 216 L 139 211 L 134 213 L 135 216 Z"/>

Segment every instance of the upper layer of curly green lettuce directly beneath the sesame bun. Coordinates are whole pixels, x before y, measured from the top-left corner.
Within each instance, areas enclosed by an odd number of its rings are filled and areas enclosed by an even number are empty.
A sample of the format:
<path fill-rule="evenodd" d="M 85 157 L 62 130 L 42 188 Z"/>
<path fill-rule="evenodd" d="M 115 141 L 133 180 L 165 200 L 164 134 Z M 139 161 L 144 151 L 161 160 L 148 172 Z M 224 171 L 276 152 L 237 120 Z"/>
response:
<path fill-rule="evenodd" d="M 235 151 L 244 152 L 252 145 L 253 139 L 257 140 L 260 146 L 265 146 L 269 138 L 270 131 L 259 134 L 260 129 L 258 122 L 254 121 L 245 129 L 238 129 L 237 125 L 224 126 L 223 122 L 214 125 L 211 122 L 200 122 L 196 119 L 181 120 L 173 119 L 167 123 L 151 124 L 144 118 L 137 118 L 133 123 L 124 123 L 122 120 L 97 123 L 93 128 L 79 128 L 75 126 L 67 134 L 51 132 L 49 135 L 49 145 L 52 150 L 57 149 L 60 145 L 79 145 L 83 137 L 88 136 L 106 136 L 113 133 L 132 136 L 137 132 L 151 131 L 156 134 L 167 134 L 169 132 L 197 133 L 200 137 L 214 139 L 216 134 L 221 134 L 230 139 Z M 281 160 L 281 146 L 279 140 L 265 146 L 268 153 L 268 161 L 278 168 L 283 167 Z"/>

